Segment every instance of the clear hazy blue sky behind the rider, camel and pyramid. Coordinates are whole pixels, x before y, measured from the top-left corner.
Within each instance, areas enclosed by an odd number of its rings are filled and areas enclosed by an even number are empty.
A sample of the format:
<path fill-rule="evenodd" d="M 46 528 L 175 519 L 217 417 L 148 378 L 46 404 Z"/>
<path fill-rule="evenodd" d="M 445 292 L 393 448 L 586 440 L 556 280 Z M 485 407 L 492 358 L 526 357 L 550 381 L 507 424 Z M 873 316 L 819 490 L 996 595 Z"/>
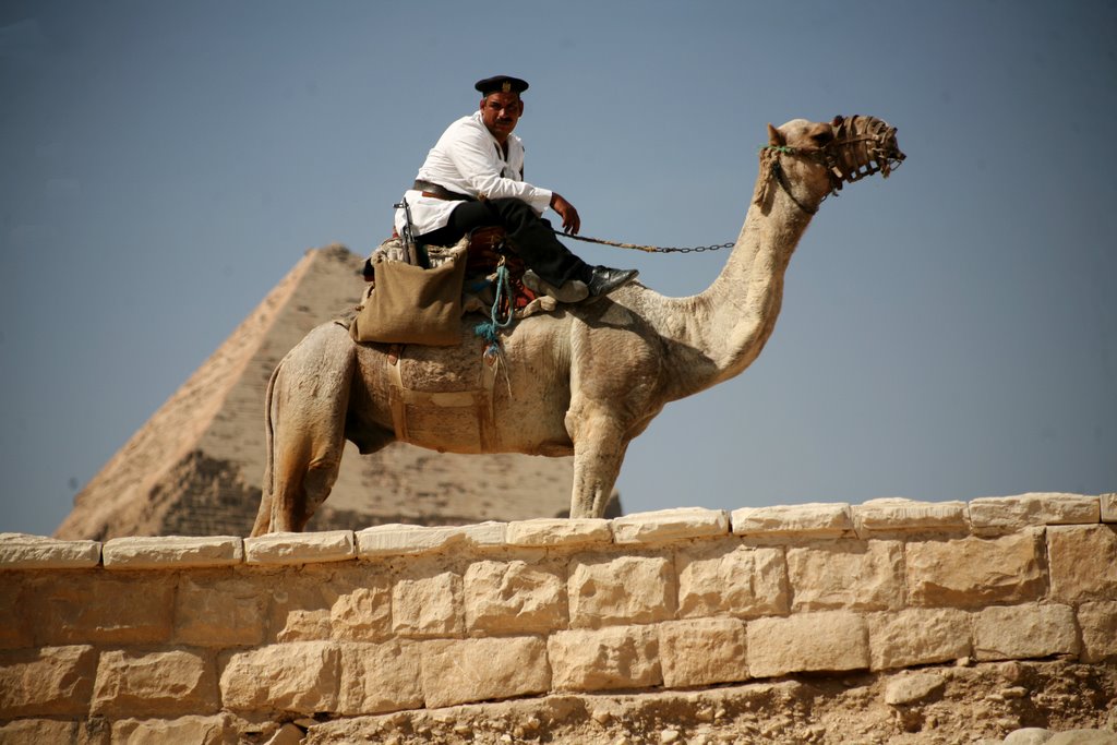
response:
<path fill-rule="evenodd" d="M 1117 490 L 1117 4 L 0 2 L 0 531 L 71 498 L 311 247 L 371 250 L 472 83 L 583 232 L 732 240 L 765 124 L 870 114 L 757 362 L 629 512 Z M 669 295 L 724 254 L 647 256 Z"/>

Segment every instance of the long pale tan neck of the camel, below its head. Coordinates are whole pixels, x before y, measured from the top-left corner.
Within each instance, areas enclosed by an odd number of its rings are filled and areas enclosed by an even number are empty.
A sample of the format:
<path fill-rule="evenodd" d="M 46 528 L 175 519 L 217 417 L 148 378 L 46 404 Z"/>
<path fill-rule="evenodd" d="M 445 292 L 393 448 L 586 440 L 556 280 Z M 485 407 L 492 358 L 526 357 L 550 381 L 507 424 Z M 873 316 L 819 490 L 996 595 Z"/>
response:
<path fill-rule="evenodd" d="M 764 178 L 764 174 L 761 174 Z M 729 260 L 704 293 L 672 302 L 685 318 L 667 334 L 679 344 L 677 397 L 739 374 L 764 348 L 783 300 L 783 275 L 811 216 L 776 184 L 767 206 L 751 203 Z"/>

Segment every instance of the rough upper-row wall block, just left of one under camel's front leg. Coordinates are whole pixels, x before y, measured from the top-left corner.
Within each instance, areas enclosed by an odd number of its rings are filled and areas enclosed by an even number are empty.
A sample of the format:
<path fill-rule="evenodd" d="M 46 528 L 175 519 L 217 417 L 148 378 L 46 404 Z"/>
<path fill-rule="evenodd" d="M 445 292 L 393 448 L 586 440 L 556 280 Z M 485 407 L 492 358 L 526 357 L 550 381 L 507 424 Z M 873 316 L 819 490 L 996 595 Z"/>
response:
<path fill-rule="evenodd" d="M 475 562 L 464 584 L 470 631 L 545 633 L 566 625 L 566 580 L 557 567 Z"/>

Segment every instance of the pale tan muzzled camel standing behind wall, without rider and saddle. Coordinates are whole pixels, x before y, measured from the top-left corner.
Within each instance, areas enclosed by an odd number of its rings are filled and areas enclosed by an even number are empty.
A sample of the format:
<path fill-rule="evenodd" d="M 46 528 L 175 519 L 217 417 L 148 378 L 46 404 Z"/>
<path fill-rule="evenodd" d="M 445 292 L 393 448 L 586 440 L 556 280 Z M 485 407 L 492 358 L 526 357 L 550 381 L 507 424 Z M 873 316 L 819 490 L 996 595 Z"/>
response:
<path fill-rule="evenodd" d="M 761 149 L 741 233 L 714 283 L 665 297 L 632 283 L 517 322 L 486 355 L 464 318 L 457 346 L 357 344 L 314 328 L 267 390 L 267 467 L 252 535 L 304 529 L 346 439 L 369 453 L 402 439 L 439 451 L 574 456 L 572 518 L 602 517 L 632 438 L 663 407 L 734 378 L 772 335 L 784 271 L 819 206 L 904 154 L 868 117 L 793 120 Z"/>

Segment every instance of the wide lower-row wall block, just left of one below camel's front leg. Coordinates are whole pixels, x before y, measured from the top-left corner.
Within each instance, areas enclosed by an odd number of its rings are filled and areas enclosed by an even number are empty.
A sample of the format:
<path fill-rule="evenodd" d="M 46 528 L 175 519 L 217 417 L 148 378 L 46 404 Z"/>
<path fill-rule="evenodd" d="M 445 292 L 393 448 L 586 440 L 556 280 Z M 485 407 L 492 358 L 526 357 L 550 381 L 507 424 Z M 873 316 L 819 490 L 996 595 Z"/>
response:
<path fill-rule="evenodd" d="M 428 708 L 546 693 L 551 666 L 540 637 L 429 641 L 422 647 Z"/>

